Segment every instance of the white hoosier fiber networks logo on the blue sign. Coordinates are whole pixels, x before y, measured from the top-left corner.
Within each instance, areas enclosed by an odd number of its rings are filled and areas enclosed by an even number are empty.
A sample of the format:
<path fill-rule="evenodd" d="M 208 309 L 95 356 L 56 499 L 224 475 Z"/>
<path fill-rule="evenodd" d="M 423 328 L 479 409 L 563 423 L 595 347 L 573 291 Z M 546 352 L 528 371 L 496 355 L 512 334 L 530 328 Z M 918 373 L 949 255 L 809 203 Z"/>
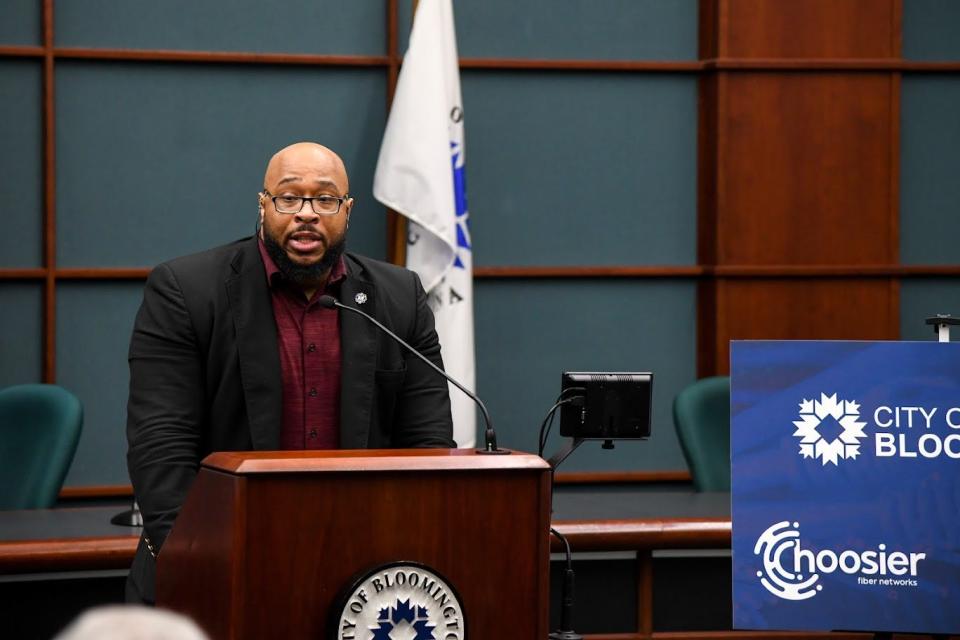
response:
<path fill-rule="evenodd" d="M 837 571 L 856 576 L 860 586 L 916 587 L 917 565 L 925 553 L 876 549 L 810 551 L 800 546 L 800 523 L 789 520 L 771 525 L 757 539 L 754 555 L 763 559 L 757 577 L 767 591 L 784 600 L 807 600 L 823 590 L 821 574 Z"/>

